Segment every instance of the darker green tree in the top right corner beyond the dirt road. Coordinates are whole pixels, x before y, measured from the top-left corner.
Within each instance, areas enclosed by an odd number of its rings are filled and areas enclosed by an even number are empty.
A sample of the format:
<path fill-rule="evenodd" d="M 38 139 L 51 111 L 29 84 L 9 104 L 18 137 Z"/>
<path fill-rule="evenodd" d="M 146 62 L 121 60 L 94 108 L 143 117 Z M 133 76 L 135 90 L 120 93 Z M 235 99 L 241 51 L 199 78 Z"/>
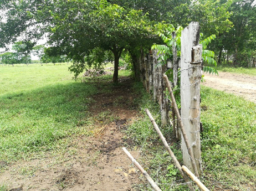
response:
<path fill-rule="evenodd" d="M 233 12 L 230 19 L 234 27 L 223 33 L 223 50 L 227 51 L 234 65 L 247 66 L 256 50 L 256 4 L 253 0 L 235 0 L 229 11 Z"/>

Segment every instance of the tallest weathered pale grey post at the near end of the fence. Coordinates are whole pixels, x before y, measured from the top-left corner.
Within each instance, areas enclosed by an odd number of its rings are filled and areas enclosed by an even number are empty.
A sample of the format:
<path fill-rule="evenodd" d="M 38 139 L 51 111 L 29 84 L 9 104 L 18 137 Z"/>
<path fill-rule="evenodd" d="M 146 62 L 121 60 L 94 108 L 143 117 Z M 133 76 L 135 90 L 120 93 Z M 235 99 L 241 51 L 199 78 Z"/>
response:
<path fill-rule="evenodd" d="M 181 32 L 181 118 L 197 171 L 201 174 L 200 142 L 200 81 L 202 78 L 202 45 L 199 43 L 199 23 L 191 22 Z M 188 149 L 182 137 L 183 163 L 194 173 Z"/>

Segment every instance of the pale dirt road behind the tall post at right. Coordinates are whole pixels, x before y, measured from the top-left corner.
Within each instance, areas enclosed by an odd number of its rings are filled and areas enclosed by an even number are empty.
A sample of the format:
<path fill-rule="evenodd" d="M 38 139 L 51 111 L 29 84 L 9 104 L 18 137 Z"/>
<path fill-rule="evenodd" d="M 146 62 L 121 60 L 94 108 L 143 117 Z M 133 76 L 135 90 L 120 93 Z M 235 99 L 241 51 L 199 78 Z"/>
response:
<path fill-rule="evenodd" d="M 256 76 L 219 72 L 219 75 L 204 73 L 202 85 L 242 96 L 256 103 Z"/>

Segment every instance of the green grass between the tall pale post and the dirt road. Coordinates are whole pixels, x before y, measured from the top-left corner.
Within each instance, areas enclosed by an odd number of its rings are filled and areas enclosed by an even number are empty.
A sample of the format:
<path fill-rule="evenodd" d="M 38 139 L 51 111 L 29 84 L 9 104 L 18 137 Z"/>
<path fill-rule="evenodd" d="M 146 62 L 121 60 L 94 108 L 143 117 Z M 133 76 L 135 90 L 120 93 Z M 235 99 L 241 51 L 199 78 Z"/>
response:
<path fill-rule="evenodd" d="M 241 97 L 202 87 L 204 172 L 224 188 L 245 190 L 256 180 L 256 105 Z M 236 177 L 236 178 L 235 178 Z M 242 183 L 242 184 L 240 184 Z"/>

